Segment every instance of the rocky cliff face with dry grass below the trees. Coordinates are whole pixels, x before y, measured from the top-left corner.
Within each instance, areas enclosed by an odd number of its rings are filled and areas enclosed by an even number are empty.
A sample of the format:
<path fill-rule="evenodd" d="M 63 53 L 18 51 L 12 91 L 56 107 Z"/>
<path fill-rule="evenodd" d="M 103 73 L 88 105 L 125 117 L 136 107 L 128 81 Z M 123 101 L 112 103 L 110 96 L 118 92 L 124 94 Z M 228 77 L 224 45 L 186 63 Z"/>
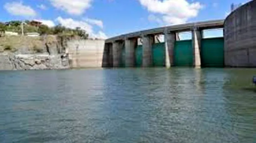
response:
<path fill-rule="evenodd" d="M 70 68 L 65 44 L 53 37 L 1 38 L 0 70 Z"/>

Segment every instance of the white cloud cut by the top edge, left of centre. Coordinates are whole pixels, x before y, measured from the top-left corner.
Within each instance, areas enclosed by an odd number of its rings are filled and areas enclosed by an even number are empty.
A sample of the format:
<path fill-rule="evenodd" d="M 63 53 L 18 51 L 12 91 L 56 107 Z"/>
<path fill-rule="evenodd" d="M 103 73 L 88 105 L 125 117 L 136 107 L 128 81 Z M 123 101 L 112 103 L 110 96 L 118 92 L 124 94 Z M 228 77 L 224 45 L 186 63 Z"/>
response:
<path fill-rule="evenodd" d="M 49 0 L 57 9 L 69 14 L 81 15 L 91 6 L 93 0 Z"/>

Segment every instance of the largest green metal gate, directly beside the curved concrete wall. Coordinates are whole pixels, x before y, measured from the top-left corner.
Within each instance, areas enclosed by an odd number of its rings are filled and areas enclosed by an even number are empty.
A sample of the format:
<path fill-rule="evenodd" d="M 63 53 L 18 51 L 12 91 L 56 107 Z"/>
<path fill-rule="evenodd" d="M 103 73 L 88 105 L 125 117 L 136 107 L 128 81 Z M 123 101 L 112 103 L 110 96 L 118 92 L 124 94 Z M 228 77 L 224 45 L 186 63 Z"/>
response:
<path fill-rule="evenodd" d="M 224 66 L 224 38 L 206 38 L 201 41 L 201 66 Z"/>

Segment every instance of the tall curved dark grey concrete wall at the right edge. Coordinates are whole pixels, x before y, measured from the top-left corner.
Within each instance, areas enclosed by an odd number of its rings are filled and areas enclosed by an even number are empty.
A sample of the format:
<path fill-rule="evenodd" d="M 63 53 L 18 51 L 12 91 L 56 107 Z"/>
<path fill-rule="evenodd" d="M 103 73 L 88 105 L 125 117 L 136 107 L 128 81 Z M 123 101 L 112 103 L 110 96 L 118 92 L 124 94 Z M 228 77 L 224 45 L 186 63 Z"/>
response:
<path fill-rule="evenodd" d="M 256 1 L 233 11 L 224 22 L 225 66 L 256 67 Z"/>

